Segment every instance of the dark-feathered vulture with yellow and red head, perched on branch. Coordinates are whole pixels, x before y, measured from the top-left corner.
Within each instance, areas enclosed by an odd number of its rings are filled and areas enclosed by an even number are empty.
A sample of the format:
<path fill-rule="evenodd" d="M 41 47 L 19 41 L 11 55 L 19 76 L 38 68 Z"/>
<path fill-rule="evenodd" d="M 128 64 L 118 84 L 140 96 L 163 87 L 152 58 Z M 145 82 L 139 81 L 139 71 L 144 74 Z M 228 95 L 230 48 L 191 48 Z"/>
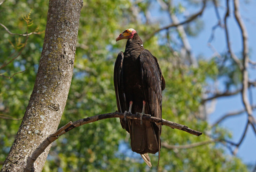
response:
<path fill-rule="evenodd" d="M 148 153 L 159 152 L 159 164 L 162 126 L 150 121 L 142 122 L 142 116 L 162 118 L 165 81 L 156 57 L 144 49 L 134 29 L 126 29 L 116 41 L 121 39 L 128 40 L 125 51 L 118 54 L 114 67 L 117 109 L 124 113 L 120 123 L 130 133 L 132 151 L 140 154 L 146 164 L 152 167 Z M 127 113 L 140 114 L 140 120 L 127 119 Z"/>

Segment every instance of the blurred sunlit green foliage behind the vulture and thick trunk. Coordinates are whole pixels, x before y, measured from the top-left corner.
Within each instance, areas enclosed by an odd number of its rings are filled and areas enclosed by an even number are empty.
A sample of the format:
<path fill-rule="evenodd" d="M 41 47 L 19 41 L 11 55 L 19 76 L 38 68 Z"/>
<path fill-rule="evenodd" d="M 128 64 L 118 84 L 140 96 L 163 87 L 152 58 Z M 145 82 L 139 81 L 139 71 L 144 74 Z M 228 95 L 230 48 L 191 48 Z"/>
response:
<path fill-rule="evenodd" d="M 148 2 L 147 2 L 148 3 Z M 148 4 L 138 4 L 142 11 Z M 78 32 L 78 47 L 71 88 L 60 126 L 88 116 L 116 111 L 113 68 L 117 54 L 124 51 L 126 41 L 115 38 L 126 28 L 135 28 L 143 39 L 156 25 L 134 21 L 132 3 L 126 0 L 84 2 Z M 183 7 L 182 7 L 183 8 Z M 182 12 L 181 6 L 178 11 Z M 45 1 L 6 1 L 0 5 L 4 18 L 0 23 L 14 33 L 43 31 L 46 25 L 48 4 Z M 19 11 L 19 13 L 15 12 Z M 28 12 L 31 11 L 31 14 Z M 29 21 L 22 16 L 30 14 Z M 27 18 L 28 21 L 28 18 Z M 15 40 L 25 37 L 10 35 L 0 27 L 0 65 L 8 61 Z M 144 43 L 162 68 L 166 81 L 163 92 L 163 118 L 188 125 L 198 131 L 209 131 L 207 121 L 197 118 L 206 79 L 216 78 L 215 61 L 199 61 L 199 68 L 180 64 L 167 45 L 159 44 L 155 36 Z M 44 34 L 32 34 L 20 56 L 0 72 L 13 78 L 1 78 L 0 113 L 22 118 L 36 78 Z M 15 44 L 14 44 L 15 45 Z M 21 120 L 0 118 L 0 161 L 7 156 Z M 223 135 L 228 132 L 221 131 Z M 162 141 L 171 145 L 184 145 L 209 140 L 206 135 L 196 137 L 183 131 L 163 126 Z M 105 119 L 80 126 L 56 140 L 51 148 L 43 171 L 156 171 L 158 155 L 150 155 L 153 168 L 148 168 L 139 154 L 130 150 L 130 138 L 122 129 L 119 119 Z M 228 156 L 220 145 L 212 143 L 190 149 L 169 150 L 162 147 L 159 171 L 246 171 L 237 158 Z"/>

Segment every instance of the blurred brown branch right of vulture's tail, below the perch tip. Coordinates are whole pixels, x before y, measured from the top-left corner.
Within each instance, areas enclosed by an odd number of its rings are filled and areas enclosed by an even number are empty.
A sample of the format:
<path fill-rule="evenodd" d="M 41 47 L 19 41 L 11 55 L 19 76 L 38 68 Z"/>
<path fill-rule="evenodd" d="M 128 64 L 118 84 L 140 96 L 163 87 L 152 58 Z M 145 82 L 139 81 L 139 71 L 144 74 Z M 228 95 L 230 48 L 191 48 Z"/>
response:
<path fill-rule="evenodd" d="M 161 145 L 162 147 L 165 147 L 167 149 L 189 149 L 189 148 L 193 148 L 193 147 L 198 147 L 201 145 L 206 145 L 209 143 L 213 143 L 216 141 L 220 141 L 219 139 L 214 139 L 214 140 L 206 140 L 206 141 L 201 141 L 201 142 L 197 142 L 197 143 L 192 143 L 192 144 L 188 144 L 188 145 L 169 145 L 166 142 L 162 142 Z"/>

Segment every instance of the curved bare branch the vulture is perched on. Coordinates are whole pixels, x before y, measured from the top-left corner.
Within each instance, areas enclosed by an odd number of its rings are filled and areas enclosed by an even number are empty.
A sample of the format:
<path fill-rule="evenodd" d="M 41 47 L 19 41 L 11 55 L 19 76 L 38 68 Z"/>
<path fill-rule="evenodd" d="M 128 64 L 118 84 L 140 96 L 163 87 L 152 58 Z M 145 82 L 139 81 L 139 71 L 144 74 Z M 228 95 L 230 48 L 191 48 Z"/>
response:
<path fill-rule="evenodd" d="M 68 124 L 62 126 L 60 129 L 58 129 L 55 133 L 49 135 L 37 148 L 36 150 L 32 153 L 31 156 L 29 156 L 30 158 L 27 161 L 27 169 L 32 169 L 33 168 L 33 163 L 36 161 L 36 158 L 44 152 L 44 149 L 46 147 L 48 147 L 53 141 L 57 140 L 59 138 L 59 136 L 61 136 L 62 134 L 67 133 L 68 131 L 72 130 L 73 128 L 76 128 L 78 126 L 84 125 L 84 124 L 88 124 L 88 123 L 92 123 L 101 119 L 107 119 L 107 118 L 124 118 L 124 113 L 119 113 L 119 112 L 113 112 L 113 113 L 105 113 L 105 114 L 100 114 L 100 115 L 95 115 L 92 117 L 88 117 L 88 118 L 83 118 L 83 119 L 79 119 L 75 122 L 70 121 Z M 129 119 L 140 119 L 140 115 L 138 114 L 127 114 L 126 118 Z M 156 118 L 156 117 L 148 117 L 146 115 L 144 115 L 142 117 L 142 120 L 146 120 L 146 121 L 151 121 L 151 122 L 155 122 L 157 125 L 166 125 L 169 126 L 171 128 L 176 128 L 182 131 L 185 131 L 187 133 L 190 134 L 194 134 L 196 136 L 200 136 L 202 134 L 202 132 L 193 130 L 191 128 L 188 128 L 185 125 L 181 125 L 172 121 L 168 121 L 165 119 L 160 119 L 160 118 Z"/>

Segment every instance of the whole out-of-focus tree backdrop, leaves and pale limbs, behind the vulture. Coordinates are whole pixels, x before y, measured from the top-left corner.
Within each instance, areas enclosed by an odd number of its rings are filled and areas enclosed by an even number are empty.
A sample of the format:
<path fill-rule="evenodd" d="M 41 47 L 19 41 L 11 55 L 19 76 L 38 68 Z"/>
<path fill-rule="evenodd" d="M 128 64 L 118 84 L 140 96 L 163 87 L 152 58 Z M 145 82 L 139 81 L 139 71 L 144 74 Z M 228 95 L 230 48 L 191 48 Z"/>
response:
<path fill-rule="evenodd" d="M 5 67 L 0 67 L 0 163 L 3 164 L 34 86 L 44 42 L 48 2 L 1 2 L 0 23 L 12 33 L 39 33 L 14 35 L 0 26 L 0 66 L 17 57 Z M 194 57 L 186 42 L 187 37 L 196 37 L 204 29 L 200 12 L 214 4 L 218 10 L 215 0 L 183 0 L 180 3 L 164 0 L 84 1 L 73 79 L 60 126 L 69 121 L 117 110 L 113 68 L 117 54 L 124 51 L 126 41 L 117 44 L 115 38 L 124 29 L 134 28 L 143 40 L 144 47 L 158 58 L 163 71 L 166 81 L 163 118 L 204 133 L 196 137 L 163 127 L 158 171 L 252 169 L 232 155 L 234 147 L 240 144 L 228 141 L 232 138 L 231 132 L 218 124 L 211 126 L 204 111 L 205 97 L 217 94 L 209 91 L 214 89 L 210 83 L 221 77 L 228 78 L 224 92 L 227 94 L 230 93 L 229 88 L 241 87 L 242 73 L 238 65 L 228 51 L 210 59 Z M 184 18 L 189 6 L 199 11 L 195 18 L 185 25 L 155 32 L 168 23 L 179 23 L 178 18 Z M 157 15 L 162 19 L 153 21 L 151 13 L 156 13 L 156 7 L 161 8 Z M 170 19 L 167 22 L 162 16 Z M 222 20 L 216 27 L 222 27 Z M 241 127 L 241 130 L 244 128 Z M 228 153 L 227 147 L 232 154 Z M 156 171 L 158 155 L 151 154 L 150 157 L 152 168 L 147 167 L 139 154 L 131 151 L 129 134 L 122 129 L 119 119 L 111 118 L 80 126 L 53 142 L 43 171 Z"/>

